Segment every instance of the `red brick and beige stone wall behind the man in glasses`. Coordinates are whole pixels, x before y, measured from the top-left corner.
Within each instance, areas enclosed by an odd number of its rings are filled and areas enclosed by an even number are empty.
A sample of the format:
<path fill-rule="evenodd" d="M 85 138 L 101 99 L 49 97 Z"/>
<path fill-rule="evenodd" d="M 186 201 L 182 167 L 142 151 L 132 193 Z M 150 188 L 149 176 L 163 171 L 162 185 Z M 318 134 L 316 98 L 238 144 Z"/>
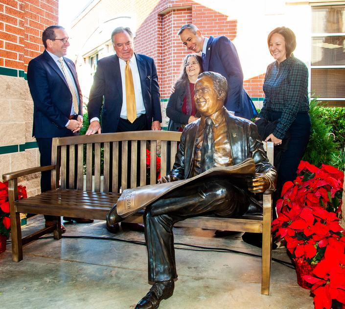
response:
<path fill-rule="evenodd" d="M 39 166 L 32 138 L 33 102 L 25 78 L 28 62 L 43 50 L 42 32 L 58 23 L 58 0 L 0 3 L 0 181 L 2 174 Z M 40 175 L 20 178 L 28 195 L 40 190 Z"/>

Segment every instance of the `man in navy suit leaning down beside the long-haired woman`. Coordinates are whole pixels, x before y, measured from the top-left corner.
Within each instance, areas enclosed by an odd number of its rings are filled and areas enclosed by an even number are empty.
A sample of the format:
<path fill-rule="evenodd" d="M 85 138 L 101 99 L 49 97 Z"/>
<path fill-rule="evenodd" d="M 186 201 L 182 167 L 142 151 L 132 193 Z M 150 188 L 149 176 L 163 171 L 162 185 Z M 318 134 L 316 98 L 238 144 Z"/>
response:
<path fill-rule="evenodd" d="M 252 99 L 243 89 L 243 72 L 235 46 L 225 37 L 204 37 L 194 24 L 183 25 L 179 32 L 184 46 L 202 52 L 204 71 L 222 74 L 228 81 L 225 107 L 235 116 L 252 119 L 257 115 Z"/>

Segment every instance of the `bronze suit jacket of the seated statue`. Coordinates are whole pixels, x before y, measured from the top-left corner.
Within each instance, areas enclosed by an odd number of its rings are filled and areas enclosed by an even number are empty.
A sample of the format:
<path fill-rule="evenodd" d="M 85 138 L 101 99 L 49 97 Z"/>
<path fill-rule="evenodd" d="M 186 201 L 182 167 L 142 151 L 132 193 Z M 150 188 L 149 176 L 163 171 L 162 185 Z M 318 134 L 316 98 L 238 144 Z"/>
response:
<path fill-rule="evenodd" d="M 239 164 L 247 158 L 253 158 L 256 173 L 266 174 L 275 184 L 276 170 L 268 161 L 256 125 L 252 121 L 232 116 L 226 109 L 225 119 L 231 146 L 229 155 L 233 165 Z M 176 153 L 175 164 L 170 172 L 171 176 L 178 179 L 190 177 L 199 127 L 200 119 L 184 127 Z"/>

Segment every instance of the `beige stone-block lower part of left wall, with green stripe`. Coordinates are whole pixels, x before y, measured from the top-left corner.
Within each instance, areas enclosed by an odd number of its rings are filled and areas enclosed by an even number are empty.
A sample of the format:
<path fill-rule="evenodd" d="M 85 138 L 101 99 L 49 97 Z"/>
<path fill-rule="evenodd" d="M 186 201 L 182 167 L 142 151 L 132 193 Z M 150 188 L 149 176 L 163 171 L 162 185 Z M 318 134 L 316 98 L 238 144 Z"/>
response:
<path fill-rule="evenodd" d="M 21 77 L 0 75 L 0 175 L 39 166 L 38 148 L 32 138 L 33 102 L 27 81 Z M 7 150 L 7 151 L 6 151 Z M 6 152 L 6 153 L 4 153 Z M 21 178 L 29 195 L 40 190 L 40 175 Z"/>

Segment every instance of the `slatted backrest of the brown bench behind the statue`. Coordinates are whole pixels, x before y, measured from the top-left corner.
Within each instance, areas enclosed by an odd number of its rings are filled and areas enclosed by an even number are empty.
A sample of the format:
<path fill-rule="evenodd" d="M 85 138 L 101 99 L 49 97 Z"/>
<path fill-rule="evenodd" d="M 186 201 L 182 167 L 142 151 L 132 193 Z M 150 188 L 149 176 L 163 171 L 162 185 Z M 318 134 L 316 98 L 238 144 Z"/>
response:
<path fill-rule="evenodd" d="M 164 176 L 175 162 L 180 137 L 180 132 L 138 131 L 55 138 L 52 164 L 61 168 L 52 173 L 52 188 L 119 193 L 138 185 L 156 184 L 158 152 L 161 176 Z M 273 162 L 273 143 L 263 144 Z M 150 152 L 149 169 L 147 150 Z"/>

